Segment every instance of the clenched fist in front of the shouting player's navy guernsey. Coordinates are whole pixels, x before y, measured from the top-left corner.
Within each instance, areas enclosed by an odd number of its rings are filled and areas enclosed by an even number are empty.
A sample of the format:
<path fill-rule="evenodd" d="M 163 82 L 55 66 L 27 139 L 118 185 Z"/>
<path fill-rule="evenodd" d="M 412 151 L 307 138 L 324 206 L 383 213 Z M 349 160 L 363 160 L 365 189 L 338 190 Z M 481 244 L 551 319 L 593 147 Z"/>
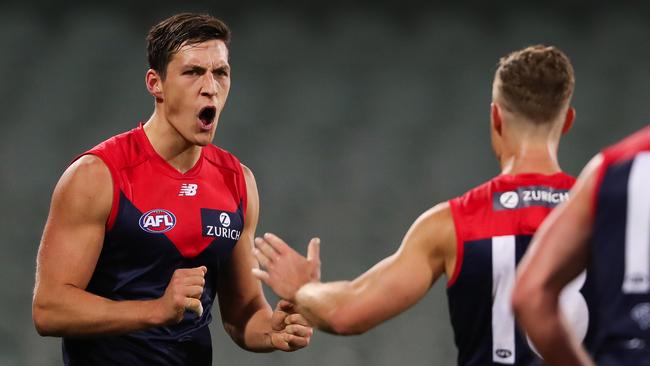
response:
<path fill-rule="evenodd" d="M 177 324 L 183 320 L 185 311 L 198 316 L 203 314 L 201 295 L 205 286 L 205 266 L 196 268 L 179 268 L 174 271 L 165 294 L 158 299 L 164 324 Z"/>

